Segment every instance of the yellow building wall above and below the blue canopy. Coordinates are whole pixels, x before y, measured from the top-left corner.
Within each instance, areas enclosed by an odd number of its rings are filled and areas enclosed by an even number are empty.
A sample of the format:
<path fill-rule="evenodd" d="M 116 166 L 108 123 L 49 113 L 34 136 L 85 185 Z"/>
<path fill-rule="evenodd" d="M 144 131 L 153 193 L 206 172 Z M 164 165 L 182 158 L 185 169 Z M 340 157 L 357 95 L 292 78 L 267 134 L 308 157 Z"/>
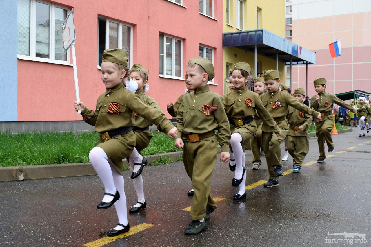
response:
<path fill-rule="evenodd" d="M 224 0 L 224 33 L 237 32 L 241 29 L 237 29 L 237 2 L 239 0 L 229 0 L 230 8 L 230 20 L 227 20 L 227 0 Z M 259 27 L 257 26 L 257 10 L 260 10 Z M 229 21 L 229 23 L 228 23 Z M 245 0 L 244 1 L 244 18 L 243 18 L 243 30 L 253 29 L 266 29 L 272 33 L 285 38 L 285 0 Z M 254 53 L 244 51 L 236 47 L 225 47 L 223 49 L 223 61 L 224 61 L 224 78 L 227 79 L 227 66 L 226 64 L 246 62 L 254 68 Z M 276 69 L 276 61 L 257 55 L 257 61 L 259 62 L 259 70 L 257 73 L 262 73 L 263 70 Z M 282 62 L 278 62 L 278 70 L 281 71 L 280 79 L 282 83 L 286 83 L 285 77 L 285 66 Z M 227 93 L 229 89 L 225 86 L 224 93 Z"/>

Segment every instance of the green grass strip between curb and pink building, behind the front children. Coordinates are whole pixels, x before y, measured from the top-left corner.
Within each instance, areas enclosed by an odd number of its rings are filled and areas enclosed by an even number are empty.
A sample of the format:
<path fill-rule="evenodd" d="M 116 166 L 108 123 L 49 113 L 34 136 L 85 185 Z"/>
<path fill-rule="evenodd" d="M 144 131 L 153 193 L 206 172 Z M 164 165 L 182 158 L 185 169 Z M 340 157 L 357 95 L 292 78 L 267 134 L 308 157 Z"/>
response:
<path fill-rule="evenodd" d="M 0 167 L 89 162 L 89 151 L 95 147 L 98 138 L 95 132 L 78 135 L 54 131 L 16 135 L 3 132 L 0 133 Z M 155 132 L 142 154 L 148 156 L 180 150 L 174 147 L 174 141 Z"/>

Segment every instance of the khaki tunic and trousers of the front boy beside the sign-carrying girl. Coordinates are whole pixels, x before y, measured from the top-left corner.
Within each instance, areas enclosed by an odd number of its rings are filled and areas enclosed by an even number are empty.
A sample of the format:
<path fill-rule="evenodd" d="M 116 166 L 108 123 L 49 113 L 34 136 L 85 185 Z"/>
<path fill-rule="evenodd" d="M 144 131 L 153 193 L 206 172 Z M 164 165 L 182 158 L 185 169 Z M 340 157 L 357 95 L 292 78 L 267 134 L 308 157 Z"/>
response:
<path fill-rule="evenodd" d="M 202 106 L 217 106 L 210 116 L 205 115 Z M 177 114 L 178 138 L 184 141 L 183 162 L 191 178 L 194 196 L 191 203 L 191 219 L 200 220 L 206 216 L 206 207 L 216 208 L 210 193 L 211 173 L 217 156 L 217 140 L 222 152 L 228 152 L 230 130 L 221 96 L 210 91 L 209 85 L 199 87 L 183 96 Z M 191 143 L 187 135 L 206 134 L 219 129 L 213 135 Z"/>

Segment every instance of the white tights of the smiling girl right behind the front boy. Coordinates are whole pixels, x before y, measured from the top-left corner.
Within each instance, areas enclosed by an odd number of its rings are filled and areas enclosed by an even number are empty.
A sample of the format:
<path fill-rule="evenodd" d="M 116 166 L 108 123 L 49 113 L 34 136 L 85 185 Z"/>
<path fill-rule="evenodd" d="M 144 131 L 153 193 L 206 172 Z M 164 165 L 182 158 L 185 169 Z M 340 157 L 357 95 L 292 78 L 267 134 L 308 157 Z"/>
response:
<path fill-rule="evenodd" d="M 234 178 L 241 179 L 243 168 L 245 167 L 245 153 L 242 151 L 242 136 L 239 133 L 233 133 L 231 136 L 231 146 L 233 149 L 234 158 L 236 159 L 236 171 Z M 243 195 L 246 192 L 246 172 L 243 175 L 242 183 L 239 185 L 240 190 L 237 194 Z"/>

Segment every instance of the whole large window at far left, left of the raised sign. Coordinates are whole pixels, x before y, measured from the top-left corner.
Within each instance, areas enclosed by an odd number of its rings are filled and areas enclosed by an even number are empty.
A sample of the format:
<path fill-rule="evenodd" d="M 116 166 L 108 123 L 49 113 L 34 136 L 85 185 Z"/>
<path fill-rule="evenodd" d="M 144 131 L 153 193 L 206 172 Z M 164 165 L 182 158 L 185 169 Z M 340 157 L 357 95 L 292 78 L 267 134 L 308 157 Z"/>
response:
<path fill-rule="evenodd" d="M 18 0 L 17 9 L 18 57 L 69 64 L 62 37 L 62 23 L 69 9 L 36 0 Z"/>

